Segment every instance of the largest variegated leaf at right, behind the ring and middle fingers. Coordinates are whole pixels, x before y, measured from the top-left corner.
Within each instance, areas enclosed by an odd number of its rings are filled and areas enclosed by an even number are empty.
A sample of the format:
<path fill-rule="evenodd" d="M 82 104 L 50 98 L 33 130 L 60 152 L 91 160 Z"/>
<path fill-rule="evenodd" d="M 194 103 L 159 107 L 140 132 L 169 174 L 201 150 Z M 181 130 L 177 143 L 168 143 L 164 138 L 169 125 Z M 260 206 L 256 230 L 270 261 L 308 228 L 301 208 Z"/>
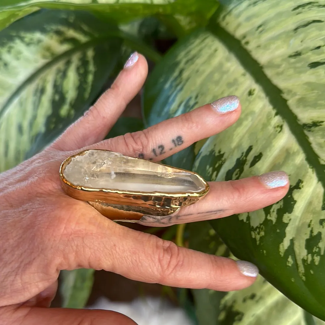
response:
<path fill-rule="evenodd" d="M 280 0 L 225 4 L 211 32 L 184 38 L 156 66 L 145 87 L 146 120 L 227 95 L 240 98 L 240 119 L 208 139 L 195 171 L 229 180 L 284 170 L 291 187 L 273 206 L 212 225 L 238 258 L 325 319 L 325 7 Z"/>

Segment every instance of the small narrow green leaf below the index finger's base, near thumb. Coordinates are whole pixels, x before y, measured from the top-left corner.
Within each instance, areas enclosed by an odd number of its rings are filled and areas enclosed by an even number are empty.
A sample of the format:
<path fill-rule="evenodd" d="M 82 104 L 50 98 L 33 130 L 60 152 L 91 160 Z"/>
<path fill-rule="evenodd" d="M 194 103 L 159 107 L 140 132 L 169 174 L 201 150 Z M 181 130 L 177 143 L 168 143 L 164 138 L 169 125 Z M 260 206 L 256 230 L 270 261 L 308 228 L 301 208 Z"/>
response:
<path fill-rule="evenodd" d="M 79 268 L 72 271 L 61 271 L 62 279 L 60 293 L 62 307 L 83 308 L 87 304 L 93 283 L 93 269 Z"/>

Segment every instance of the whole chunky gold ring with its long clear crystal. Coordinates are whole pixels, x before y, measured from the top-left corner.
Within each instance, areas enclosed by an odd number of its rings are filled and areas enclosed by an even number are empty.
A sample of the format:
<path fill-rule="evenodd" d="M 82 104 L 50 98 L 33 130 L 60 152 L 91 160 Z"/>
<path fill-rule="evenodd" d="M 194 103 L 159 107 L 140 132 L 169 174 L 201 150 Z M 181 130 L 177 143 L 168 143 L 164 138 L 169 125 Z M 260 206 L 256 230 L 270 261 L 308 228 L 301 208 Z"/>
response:
<path fill-rule="evenodd" d="M 67 195 L 87 201 L 114 221 L 166 216 L 209 191 L 207 182 L 194 172 L 100 149 L 67 158 L 60 178 Z"/>

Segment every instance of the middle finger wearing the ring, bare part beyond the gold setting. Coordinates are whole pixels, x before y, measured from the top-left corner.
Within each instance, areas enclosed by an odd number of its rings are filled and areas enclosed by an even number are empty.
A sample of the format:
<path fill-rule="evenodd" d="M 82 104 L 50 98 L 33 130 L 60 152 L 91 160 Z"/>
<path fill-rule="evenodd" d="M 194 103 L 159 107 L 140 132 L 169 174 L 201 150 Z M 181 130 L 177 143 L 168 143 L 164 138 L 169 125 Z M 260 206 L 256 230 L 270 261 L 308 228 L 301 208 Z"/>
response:
<path fill-rule="evenodd" d="M 138 223 L 166 227 L 259 210 L 286 195 L 289 179 L 285 172 L 270 172 L 239 180 L 209 182 L 209 186 L 208 194 L 197 203 L 167 216 L 145 215 Z"/>

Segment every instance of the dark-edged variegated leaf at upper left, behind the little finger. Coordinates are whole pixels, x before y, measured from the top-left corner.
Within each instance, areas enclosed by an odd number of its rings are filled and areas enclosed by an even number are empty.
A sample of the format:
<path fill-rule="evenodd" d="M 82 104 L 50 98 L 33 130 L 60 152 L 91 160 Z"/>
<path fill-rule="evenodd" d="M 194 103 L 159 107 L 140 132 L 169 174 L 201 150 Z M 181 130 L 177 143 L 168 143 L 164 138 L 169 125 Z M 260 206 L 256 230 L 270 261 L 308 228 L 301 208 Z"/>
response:
<path fill-rule="evenodd" d="M 98 96 L 119 31 L 85 12 L 40 11 L 0 32 L 0 171 L 52 142 Z"/>

